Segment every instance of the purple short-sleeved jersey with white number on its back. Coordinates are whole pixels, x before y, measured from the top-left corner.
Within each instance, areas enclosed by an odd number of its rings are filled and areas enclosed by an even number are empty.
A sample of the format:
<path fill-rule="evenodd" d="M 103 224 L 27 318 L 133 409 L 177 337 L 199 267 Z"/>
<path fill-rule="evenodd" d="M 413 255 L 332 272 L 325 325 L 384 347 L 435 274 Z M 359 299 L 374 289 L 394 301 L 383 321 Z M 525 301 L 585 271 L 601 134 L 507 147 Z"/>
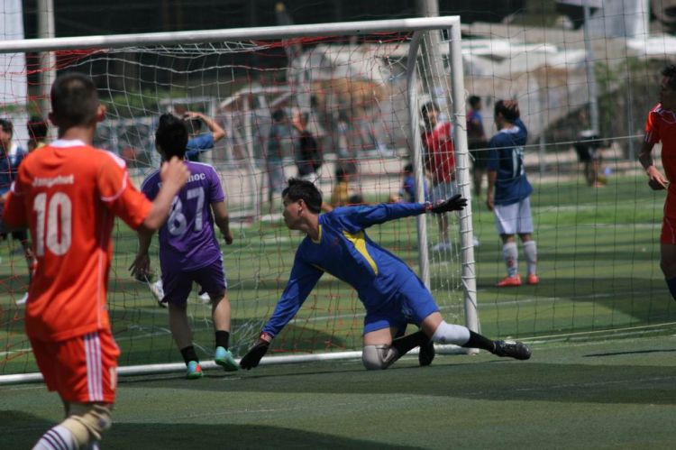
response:
<path fill-rule="evenodd" d="M 171 203 L 167 222 L 160 227 L 162 272 L 196 271 L 222 257 L 214 232 L 211 204 L 224 200 L 223 188 L 213 167 L 186 161 L 190 178 Z M 160 171 L 143 181 L 141 190 L 153 200 L 160 190 Z"/>

